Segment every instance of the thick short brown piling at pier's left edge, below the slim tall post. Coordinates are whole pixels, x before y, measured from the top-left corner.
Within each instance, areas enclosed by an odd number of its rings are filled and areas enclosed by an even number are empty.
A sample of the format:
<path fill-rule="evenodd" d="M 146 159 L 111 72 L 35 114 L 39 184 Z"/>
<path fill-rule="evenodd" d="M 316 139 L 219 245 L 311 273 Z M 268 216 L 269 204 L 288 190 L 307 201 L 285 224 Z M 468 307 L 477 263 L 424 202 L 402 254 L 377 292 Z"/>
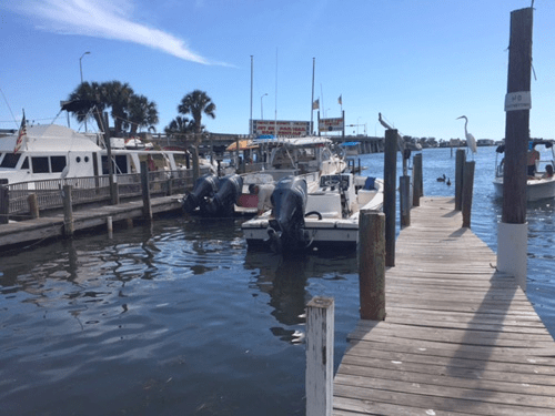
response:
<path fill-rule="evenodd" d="M 362 210 L 359 216 L 361 319 L 385 319 L 385 214 Z"/>

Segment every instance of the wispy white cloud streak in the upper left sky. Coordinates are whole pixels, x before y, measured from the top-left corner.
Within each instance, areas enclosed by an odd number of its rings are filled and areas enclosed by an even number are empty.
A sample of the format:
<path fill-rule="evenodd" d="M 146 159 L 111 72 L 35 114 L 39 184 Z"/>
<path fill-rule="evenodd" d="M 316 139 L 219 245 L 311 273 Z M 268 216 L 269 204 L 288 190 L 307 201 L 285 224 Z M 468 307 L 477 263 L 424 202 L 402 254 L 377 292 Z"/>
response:
<path fill-rule="evenodd" d="M 40 29 L 139 43 L 202 64 L 210 62 L 186 42 L 162 30 L 135 23 L 132 0 L 40 0 L 22 1 L 18 10 L 40 21 Z"/>

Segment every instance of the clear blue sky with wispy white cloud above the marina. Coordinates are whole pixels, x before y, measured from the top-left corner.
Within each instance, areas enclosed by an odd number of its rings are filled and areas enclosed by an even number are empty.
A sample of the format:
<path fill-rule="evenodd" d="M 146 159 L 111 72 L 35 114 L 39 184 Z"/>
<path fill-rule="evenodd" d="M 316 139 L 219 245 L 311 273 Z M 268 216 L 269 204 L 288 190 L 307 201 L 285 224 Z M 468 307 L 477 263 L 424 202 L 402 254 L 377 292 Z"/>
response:
<path fill-rule="evenodd" d="M 0 4 L 0 128 L 49 123 L 80 82 L 128 82 L 158 104 L 158 131 L 205 91 L 218 133 L 254 119 L 340 116 L 347 133 L 448 140 L 505 135 L 511 11 L 531 0 L 19 0 Z M 555 138 L 555 1 L 534 2 L 531 133 Z M 90 54 L 83 55 L 89 51 Z M 268 93 L 268 95 L 263 94 Z M 13 114 L 13 115 L 12 115 Z M 316 119 L 316 112 L 314 112 Z M 16 119 L 16 121 L 14 121 Z M 61 115 L 57 123 L 67 123 Z M 71 126 L 78 124 L 71 121 Z M 82 129 L 82 126 L 81 126 Z"/>

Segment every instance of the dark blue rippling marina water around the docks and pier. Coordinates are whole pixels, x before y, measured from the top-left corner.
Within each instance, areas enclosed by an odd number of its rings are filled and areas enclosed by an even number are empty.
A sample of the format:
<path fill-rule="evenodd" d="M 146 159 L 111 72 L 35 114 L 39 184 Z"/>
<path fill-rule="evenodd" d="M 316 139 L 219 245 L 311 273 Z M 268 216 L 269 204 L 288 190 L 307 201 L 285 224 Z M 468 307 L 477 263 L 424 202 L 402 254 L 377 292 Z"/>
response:
<path fill-rule="evenodd" d="M 425 195 L 454 195 L 436 181 L 454 183 L 454 154 L 423 151 Z M 383 176 L 383 154 L 360 158 Z M 495 251 L 495 148 L 474 159 L 472 230 Z M 554 211 L 527 210 L 527 294 L 552 335 Z M 242 221 L 169 216 L 3 253 L 0 415 L 304 415 L 304 306 L 335 298 L 337 366 L 356 254 L 250 252 Z"/>

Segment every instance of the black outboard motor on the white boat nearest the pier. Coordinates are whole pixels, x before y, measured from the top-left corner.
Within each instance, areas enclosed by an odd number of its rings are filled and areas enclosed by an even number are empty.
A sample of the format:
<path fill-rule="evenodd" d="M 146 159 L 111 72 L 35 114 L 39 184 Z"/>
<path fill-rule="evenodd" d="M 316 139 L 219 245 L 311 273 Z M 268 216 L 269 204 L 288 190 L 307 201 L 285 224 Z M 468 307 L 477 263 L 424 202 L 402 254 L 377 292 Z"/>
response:
<path fill-rule="evenodd" d="M 278 253 L 294 252 L 306 247 L 304 210 L 306 207 L 306 181 L 285 176 L 272 193 L 274 220 L 270 220 L 268 235 L 270 247 Z"/>

